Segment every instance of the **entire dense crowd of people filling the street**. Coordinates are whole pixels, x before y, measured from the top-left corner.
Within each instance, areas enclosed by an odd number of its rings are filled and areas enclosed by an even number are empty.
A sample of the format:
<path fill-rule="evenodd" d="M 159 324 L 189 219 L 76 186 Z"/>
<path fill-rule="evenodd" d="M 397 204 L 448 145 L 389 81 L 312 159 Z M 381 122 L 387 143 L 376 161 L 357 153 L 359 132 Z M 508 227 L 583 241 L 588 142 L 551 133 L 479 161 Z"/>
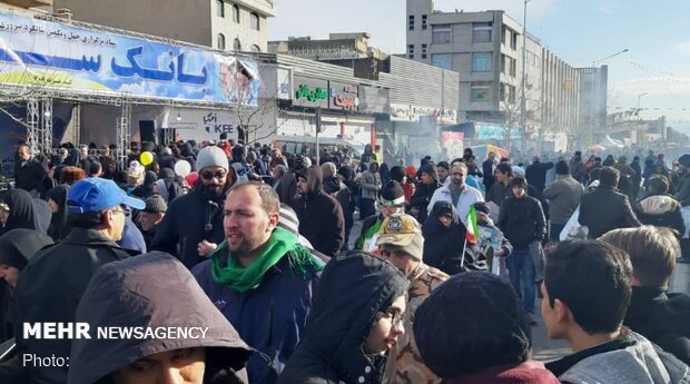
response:
<path fill-rule="evenodd" d="M 132 142 L 121 168 L 115 148 L 20 145 L 0 195 L 0 383 L 690 382 L 690 296 L 669 292 L 690 258 L 690 155 L 379 149 L 221 136 Z M 540 321 L 572 354 L 532 358 Z"/>

